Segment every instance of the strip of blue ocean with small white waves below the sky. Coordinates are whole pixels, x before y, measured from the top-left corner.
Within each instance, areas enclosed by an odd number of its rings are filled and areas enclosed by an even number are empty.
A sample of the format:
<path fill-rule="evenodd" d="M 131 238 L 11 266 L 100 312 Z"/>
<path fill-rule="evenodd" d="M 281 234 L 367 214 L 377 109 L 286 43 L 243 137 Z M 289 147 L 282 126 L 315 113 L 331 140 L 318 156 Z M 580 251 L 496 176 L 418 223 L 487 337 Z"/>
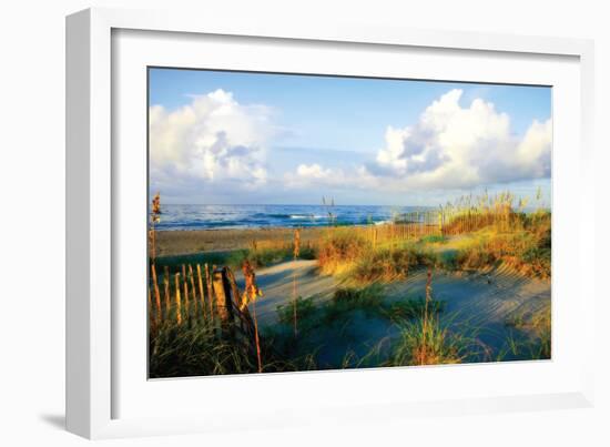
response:
<path fill-rule="evenodd" d="M 389 222 L 405 213 L 429 211 L 425 206 L 337 205 L 162 205 L 157 230 L 253 228 L 325 226 L 328 212 L 337 225 Z"/>

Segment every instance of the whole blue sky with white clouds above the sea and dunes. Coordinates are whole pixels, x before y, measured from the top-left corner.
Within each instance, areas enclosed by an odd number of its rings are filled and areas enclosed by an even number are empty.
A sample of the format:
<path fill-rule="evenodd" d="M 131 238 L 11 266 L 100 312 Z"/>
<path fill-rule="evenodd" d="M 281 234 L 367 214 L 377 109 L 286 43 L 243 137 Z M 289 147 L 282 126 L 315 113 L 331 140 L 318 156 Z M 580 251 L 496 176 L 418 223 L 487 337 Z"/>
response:
<path fill-rule="evenodd" d="M 173 203 L 549 194 L 550 88 L 174 69 L 149 82 L 150 187 Z"/>

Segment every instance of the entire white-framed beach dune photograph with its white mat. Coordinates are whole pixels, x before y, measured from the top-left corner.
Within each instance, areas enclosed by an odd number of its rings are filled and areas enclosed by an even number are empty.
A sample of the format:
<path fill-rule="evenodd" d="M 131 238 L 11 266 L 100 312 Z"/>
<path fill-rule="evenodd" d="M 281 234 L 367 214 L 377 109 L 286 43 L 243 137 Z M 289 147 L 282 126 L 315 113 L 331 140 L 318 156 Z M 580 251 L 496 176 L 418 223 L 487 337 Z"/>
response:
<path fill-rule="evenodd" d="M 67 27 L 71 431 L 590 405 L 590 42 Z"/>

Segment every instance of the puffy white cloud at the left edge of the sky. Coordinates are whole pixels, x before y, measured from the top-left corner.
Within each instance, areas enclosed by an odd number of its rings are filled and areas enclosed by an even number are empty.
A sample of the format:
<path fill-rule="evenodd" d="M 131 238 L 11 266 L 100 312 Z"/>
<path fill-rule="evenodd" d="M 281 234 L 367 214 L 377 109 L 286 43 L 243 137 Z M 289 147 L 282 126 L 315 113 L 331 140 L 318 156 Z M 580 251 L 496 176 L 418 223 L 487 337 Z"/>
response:
<path fill-rule="evenodd" d="M 175 111 L 150 108 L 150 169 L 159 182 L 244 185 L 266 181 L 265 148 L 275 130 L 272 110 L 240 104 L 216 90 Z"/>

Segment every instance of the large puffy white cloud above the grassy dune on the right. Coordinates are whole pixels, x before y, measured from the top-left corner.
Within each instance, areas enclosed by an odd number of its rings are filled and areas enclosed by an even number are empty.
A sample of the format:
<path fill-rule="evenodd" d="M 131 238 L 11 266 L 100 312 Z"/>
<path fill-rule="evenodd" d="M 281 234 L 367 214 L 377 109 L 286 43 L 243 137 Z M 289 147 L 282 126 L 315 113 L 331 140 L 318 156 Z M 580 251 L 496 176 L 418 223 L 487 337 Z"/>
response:
<path fill-rule="evenodd" d="M 406 187 L 470 187 L 550 175 L 551 120 L 533 121 L 522 139 L 490 102 L 462 108 L 455 89 L 434 101 L 410 126 L 385 134 L 367 164 L 373 175 Z M 397 182 L 399 181 L 399 182 Z"/>

